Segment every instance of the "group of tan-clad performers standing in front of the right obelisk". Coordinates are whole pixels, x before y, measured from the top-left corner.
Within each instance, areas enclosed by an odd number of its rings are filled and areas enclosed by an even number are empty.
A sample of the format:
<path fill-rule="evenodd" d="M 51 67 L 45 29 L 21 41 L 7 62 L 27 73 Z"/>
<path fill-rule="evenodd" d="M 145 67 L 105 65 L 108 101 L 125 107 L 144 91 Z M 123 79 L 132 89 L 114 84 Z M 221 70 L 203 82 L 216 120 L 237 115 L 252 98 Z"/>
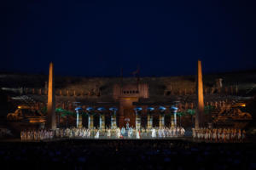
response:
<path fill-rule="evenodd" d="M 209 142 L 242 142 L 246 138 L 246 131 L 236 128 L 192 128 L 193 139 Z"/>

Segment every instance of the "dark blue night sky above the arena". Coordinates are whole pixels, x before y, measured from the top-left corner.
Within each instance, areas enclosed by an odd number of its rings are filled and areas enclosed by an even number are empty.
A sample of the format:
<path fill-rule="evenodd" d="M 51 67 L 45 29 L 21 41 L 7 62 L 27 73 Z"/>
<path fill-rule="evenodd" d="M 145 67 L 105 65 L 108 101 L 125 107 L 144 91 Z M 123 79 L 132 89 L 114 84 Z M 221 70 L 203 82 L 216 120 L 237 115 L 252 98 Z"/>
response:
<path fill-rule="evenodd" d="M 84 3 L 86 2 L 86 3 Z M 112 1 L 114 2 L 114 1 Z M 69 76 L 256 68 L 253 1 L 1 1 L 0 70 Z M 140 2 L 140 3 L 138 3 Z"/>

